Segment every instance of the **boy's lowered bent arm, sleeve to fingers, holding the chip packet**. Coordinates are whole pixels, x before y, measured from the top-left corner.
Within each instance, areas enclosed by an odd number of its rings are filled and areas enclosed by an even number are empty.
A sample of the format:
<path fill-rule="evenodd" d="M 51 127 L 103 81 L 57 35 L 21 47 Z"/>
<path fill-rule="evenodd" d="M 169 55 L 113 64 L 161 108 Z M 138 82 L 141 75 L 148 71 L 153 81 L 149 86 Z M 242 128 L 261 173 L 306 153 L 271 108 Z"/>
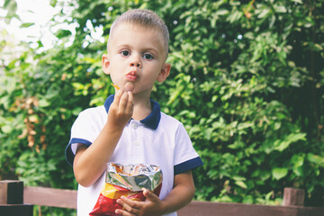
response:
<path fill-rule="evenodd" d="M 162 215 L 173 211 L 178 211 L 191 202 L 194 194 L 193 175 L 191 171 L 175 175 L 174 189 L 160 200 L 156 194 L 144 190 L 146 202 L 131 201 L 126 197 L 121 197 L 117 202 L 124 210 L 116 210 L 116 213 L 123 216 L 131 215 Z"/>

